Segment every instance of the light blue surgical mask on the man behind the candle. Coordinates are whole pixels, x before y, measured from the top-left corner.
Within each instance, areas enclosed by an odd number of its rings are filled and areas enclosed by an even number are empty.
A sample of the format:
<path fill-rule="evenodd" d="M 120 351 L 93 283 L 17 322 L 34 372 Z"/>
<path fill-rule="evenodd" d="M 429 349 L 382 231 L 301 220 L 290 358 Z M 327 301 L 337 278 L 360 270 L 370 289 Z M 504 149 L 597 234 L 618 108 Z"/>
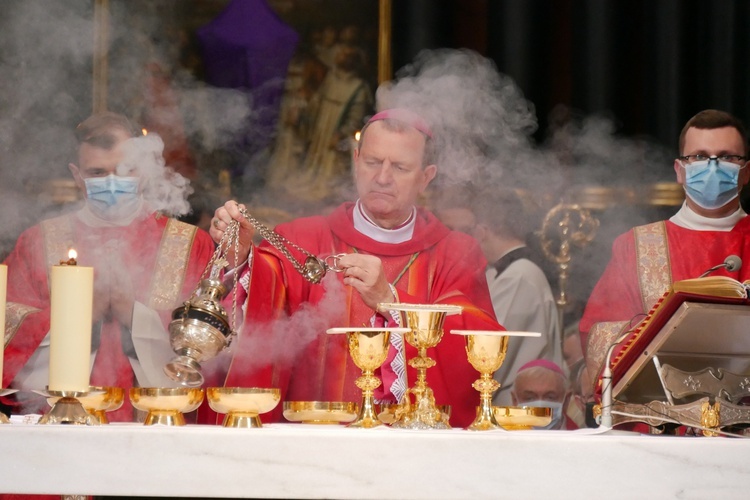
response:
<path fill-rule="evenodd" d="M 140 204 L 138 177 L 110 174 L 106 177 L 89 177 L 83 181 L 91 211 L 103 219 L 112 220 L 128 215 Z"/>

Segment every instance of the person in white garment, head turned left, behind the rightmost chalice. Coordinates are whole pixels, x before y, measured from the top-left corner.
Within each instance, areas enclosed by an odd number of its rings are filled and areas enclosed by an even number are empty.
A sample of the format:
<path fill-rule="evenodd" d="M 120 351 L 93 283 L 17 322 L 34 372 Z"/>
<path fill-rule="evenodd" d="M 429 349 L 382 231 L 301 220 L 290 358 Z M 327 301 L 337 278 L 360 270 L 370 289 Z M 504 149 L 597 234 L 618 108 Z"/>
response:
<path fill-rule="evenodd" d="M 562 346 L 557 304 L 547 278 L 526 236 L 533 230 L 518 193 L 512 189 L 466 187 L 437 201 L 438 218 L 451 229 L 473 236 L 489 265 L 485 276 L 492 307 L 510 331 L 539 332 L 541 337 L 511 337 L 495 379 L 502 385 L 493 396 L 496 406 L 511 404 L 516 371 L 544 358 L 561 364 Z"/>

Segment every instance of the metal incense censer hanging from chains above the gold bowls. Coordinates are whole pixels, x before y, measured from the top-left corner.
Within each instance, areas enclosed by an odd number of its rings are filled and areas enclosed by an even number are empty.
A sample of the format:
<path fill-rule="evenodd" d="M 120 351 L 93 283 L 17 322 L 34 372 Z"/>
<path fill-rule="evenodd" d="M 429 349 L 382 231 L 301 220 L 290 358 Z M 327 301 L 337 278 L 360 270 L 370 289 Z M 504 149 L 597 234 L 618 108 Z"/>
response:
<path fill-rule="evenodd" d="M 177 354 L 164 367 L 169 378 L 188 387 L 203 384 L 201 361 L 211 359 L 229 346 L 232 328 L 221 299 L 226 287 L 216 279 L 204 279 L 197 295 L 172 312 L 169 342 Z"/>

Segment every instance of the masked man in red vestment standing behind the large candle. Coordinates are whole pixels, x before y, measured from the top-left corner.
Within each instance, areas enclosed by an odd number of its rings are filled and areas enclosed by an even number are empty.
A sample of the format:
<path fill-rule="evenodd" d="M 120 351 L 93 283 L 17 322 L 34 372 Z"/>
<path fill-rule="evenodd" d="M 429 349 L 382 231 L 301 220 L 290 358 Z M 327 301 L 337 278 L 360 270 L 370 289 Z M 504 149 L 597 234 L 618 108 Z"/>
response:
<path fill-rule="evenodd" d="M 173 355 L 166 325 L 190 296 L 214 251 L 209 235 L 162 212 L 188 209 L 189 184 L 165 167 L 156 135 L 136 137 L 126 117 L 96 114 L 76 128 L 78 156 L 69 169 L 83 206 L 45 220 L 18 238 L 8 256 L 3 387 L 21 389 L 14 413 L 49 409 L 50 266 L 66 260 L 94 268 L 91 385 L 164 386 Z M 157 345 L 161 350 L 157 350 Z M 27 392 L 29 391 L 29 392 Z M 107 414 L 131 421 L 128 398 Z"/>

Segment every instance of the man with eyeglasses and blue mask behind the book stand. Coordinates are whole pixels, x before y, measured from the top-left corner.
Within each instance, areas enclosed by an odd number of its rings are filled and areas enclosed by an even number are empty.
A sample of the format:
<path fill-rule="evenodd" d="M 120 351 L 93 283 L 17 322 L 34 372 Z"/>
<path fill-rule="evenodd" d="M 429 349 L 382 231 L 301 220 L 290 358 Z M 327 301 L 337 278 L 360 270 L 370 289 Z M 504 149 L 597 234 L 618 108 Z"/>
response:
<path fill-rule="evenodd" d="M 750 262 L 745 245 L 750 218 L 739 200 L 750 179 L 747 163 L 747 133 L 736 117 L 709 109 L 685 124 L 674 161 L 685 202 L 669 220 L 633 228 L 615 240 L 581 318 L 591 373 L 599 373 L 609 345 L 637 325 L 672 283 L 697 278 L 730 255 Z M 713 274 L 744 281 L 750 265 Z"/>

